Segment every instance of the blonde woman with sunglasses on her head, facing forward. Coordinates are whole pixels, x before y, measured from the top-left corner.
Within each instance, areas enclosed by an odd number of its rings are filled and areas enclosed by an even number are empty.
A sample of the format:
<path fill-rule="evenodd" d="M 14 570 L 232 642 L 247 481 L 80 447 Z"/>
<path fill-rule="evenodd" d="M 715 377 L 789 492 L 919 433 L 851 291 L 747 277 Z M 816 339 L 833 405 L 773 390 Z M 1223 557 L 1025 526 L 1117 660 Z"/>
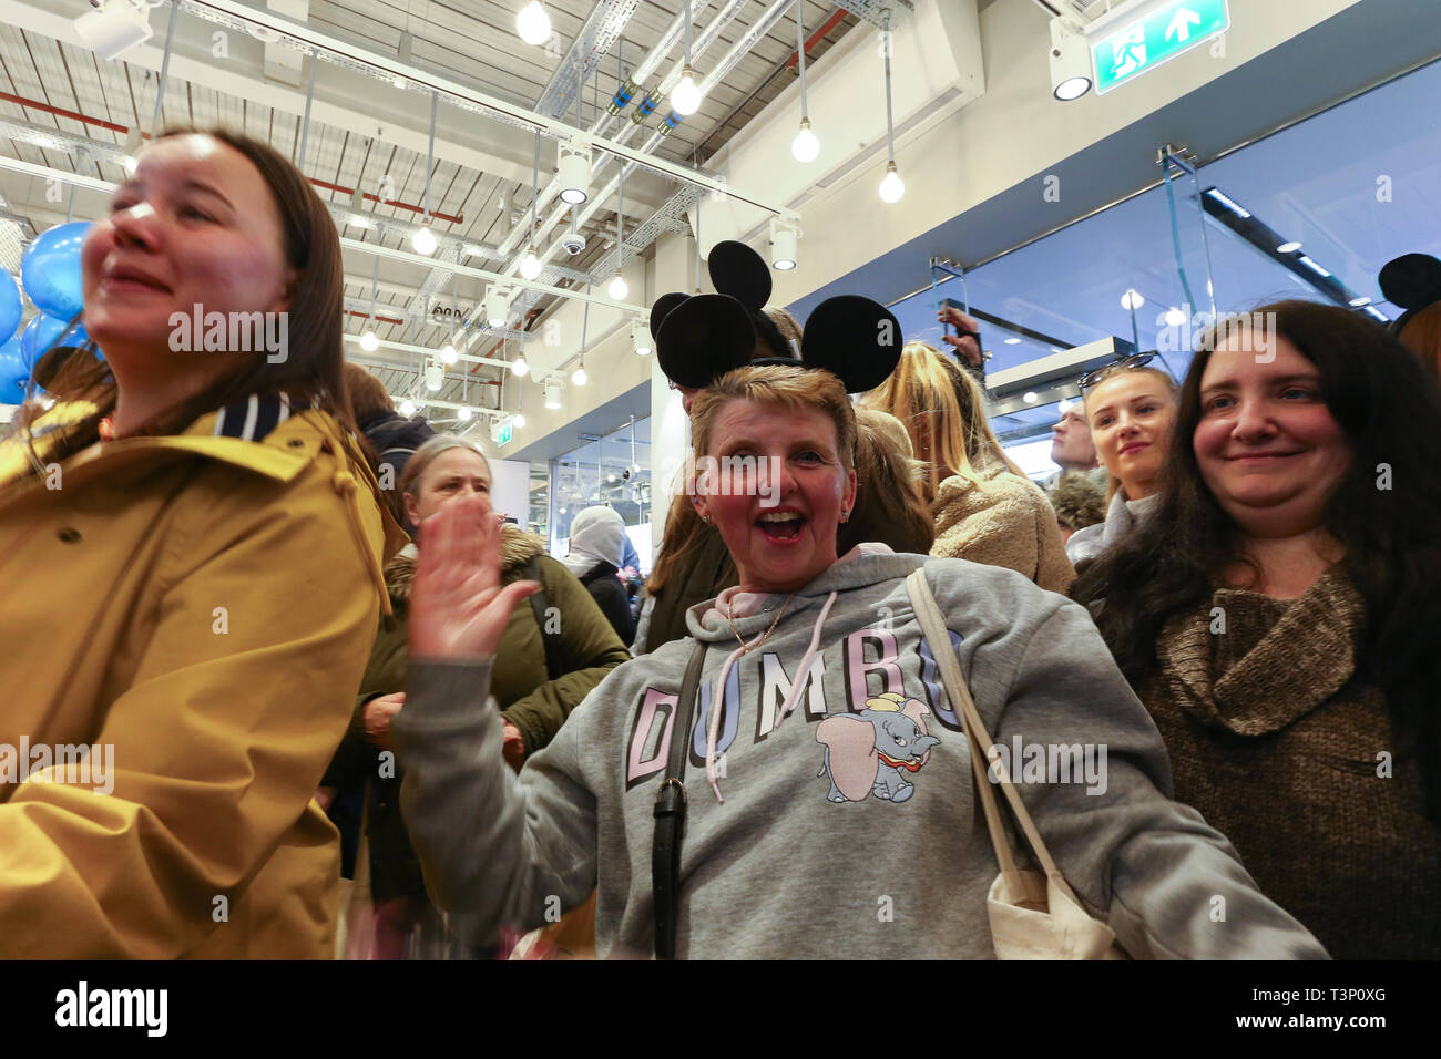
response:
<path fill-rule="evenodd" d="M 1066 540 L 1074 563 L 1094 559 L 1130 536 L 1160 491 L 1160 471 L 1176 422 L 1176 383 L 1138 353 L 1081 379 L 1091 439 L 1110 486 L 1105 522 L 1076 530 Z"/>

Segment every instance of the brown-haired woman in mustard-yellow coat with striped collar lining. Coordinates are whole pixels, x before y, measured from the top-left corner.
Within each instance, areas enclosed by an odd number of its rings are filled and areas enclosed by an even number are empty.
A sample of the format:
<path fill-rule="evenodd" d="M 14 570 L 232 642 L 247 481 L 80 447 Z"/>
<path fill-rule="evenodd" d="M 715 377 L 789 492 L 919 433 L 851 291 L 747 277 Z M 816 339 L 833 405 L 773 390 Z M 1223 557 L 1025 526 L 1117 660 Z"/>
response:
<path fill-rule="evenodd" d="M 167 134 L 82 271 L 105 360 L 0 447 L 0 745 L 29 748 L 0 751 L 0 957 L 329 957 L 311 795 L 401 543 L 350 434 L 340 241 L 268 146 Z"/>

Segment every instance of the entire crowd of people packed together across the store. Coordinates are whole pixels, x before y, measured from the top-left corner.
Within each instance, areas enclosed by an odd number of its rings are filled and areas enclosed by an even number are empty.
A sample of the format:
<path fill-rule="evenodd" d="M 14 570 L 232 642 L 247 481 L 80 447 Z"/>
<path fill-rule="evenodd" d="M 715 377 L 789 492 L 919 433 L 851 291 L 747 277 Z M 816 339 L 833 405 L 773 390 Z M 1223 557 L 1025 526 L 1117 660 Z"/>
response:
<path fill-rule="evenodd" d="M 1087 372 L 1036 484 L 974 320 L 803 323 L 720 243 L 651 329 L 726 470 L 676 483 L 637 615 L 615 511 L 549 556 L 343 363 L 308 182 L 160 135 L 85 246 L 104 359 L 0 442 L 0 743 L 88 748 L 0 777 L 0 957 L 990 958 L 1045 905 L 990 784 L 1131 957 L 1441 957 L 1418 256 L 1395 334 L 1285 301 L 1183 379 Z M 171 352 L 192 304 L 290 313 L 288 357 Z"/>

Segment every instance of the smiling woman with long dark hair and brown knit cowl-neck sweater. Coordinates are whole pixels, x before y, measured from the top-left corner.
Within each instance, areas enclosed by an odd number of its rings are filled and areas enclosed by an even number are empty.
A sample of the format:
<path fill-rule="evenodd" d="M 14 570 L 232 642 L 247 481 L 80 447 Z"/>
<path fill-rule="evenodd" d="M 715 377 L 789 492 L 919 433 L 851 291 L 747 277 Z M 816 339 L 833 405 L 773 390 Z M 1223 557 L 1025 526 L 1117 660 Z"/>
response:
<path fill-rule="evenodd" d="M 1076 582 L 1177 800 L 1337 958 L 1441 957 L 1441 393 L 1369 321 L 1203 343 L 1156 510 Z"/>

